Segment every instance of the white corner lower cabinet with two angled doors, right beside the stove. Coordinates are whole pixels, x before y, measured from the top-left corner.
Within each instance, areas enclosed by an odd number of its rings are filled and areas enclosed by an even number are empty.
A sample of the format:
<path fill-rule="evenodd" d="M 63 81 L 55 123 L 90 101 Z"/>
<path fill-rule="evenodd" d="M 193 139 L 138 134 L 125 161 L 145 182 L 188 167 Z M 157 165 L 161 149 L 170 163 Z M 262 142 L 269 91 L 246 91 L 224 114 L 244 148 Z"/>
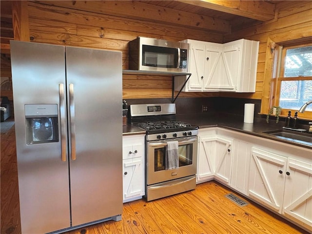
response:
<path fill-rule="evenodd" d="M 230 184 L 233 140 L 214 134 L 199 132 L 196 183 L 217 179 Z"/>

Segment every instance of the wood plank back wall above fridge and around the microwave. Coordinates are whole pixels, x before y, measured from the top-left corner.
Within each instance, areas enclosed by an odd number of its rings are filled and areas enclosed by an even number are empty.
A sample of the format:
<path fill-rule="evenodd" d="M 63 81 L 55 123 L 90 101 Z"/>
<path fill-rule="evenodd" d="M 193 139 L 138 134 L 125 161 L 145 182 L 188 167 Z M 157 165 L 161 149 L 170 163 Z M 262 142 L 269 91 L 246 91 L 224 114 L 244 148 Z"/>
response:
<path fill-rule="evenodd" d="M 123 11 L 122 8 L 119 11 Z M 167 40 L 197 39 L 222 42 L 223 36 L 142 20 L 86 12 L 28 2 L 30 41 L 122 51 L 123 69 L 128 69 L 128 42 L 138 36 Z M 168 98 L 172 78 L 124 75 L 123 98 Z M 218 93 L 185 93 L 179 97 L 211 97 Z"/>

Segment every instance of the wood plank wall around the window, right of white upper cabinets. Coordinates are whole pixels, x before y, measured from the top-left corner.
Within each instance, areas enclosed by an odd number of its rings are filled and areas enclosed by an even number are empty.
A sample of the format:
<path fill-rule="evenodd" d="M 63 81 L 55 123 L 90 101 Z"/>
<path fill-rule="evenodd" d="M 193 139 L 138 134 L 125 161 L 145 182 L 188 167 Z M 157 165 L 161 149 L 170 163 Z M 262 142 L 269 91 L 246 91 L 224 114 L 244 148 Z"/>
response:
<path fill-rule="evenodd" d="M 224 42 L 235 39 L 251 39 L 260 41 L 256 93 L 251 98 L 261 99 L 261 113 L 267 113 L 270 109 L 270 90 L 273 66 L 271 50 L 267 50 L 267 42 L 281 43 L 295 39 L 312 37 L 312 1 L 282 1 L 276 4 L 276 16 L 274 20 L 240 30 L 224 37 Z M 312 41 L 312 39 L 310 39 Z M 266 64 L 267 62 L 267 64 Z M 270 76 L 270 77 L 265 77 Z M 221 96 L 234 97 L 232 94 L 221 94 Z"/>

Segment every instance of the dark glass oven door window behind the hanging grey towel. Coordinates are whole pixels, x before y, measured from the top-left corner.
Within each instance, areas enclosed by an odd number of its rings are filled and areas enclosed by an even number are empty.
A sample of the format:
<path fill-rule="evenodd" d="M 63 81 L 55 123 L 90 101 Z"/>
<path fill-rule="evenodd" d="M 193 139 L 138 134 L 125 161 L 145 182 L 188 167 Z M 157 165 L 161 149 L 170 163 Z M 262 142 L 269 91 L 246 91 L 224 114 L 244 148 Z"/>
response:
<path fill-rule="evenodd" d="M 166 168 L 166 147 L 154 149 L 154 170 L 163 171 Z M 192 165 L 193 144 L 179 145 L 179 167 Z"/>

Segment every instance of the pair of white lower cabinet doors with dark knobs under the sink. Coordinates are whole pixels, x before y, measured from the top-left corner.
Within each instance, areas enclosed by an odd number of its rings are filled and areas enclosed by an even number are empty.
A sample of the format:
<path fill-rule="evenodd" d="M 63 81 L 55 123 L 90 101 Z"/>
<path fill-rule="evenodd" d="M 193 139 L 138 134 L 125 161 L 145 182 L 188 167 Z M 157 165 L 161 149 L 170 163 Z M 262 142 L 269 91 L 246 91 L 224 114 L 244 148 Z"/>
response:
<path fill-rule="evenodd" d="M 312 231 L 312 164 L 252 149 L 249 196 Z"/>

